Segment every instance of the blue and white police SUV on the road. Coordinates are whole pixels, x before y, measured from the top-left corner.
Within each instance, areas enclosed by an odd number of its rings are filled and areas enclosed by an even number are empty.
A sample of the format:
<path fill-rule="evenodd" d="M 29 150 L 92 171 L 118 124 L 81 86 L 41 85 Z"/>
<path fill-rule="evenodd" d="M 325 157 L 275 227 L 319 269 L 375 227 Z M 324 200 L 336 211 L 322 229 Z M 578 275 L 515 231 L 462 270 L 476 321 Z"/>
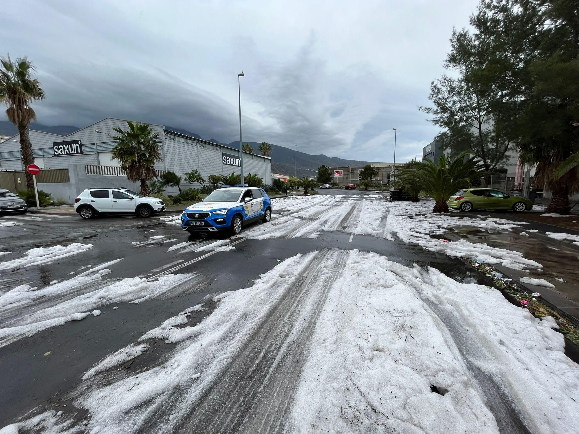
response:
<path fill-rule="evenodd" d="M 211 192 L 203 202 L 185 208 L 181 227 L 189 233 L 229 230 L 239 234 L 248 223 L 272 219 L 272 201 L 263 189 L 222 187 Z"/>

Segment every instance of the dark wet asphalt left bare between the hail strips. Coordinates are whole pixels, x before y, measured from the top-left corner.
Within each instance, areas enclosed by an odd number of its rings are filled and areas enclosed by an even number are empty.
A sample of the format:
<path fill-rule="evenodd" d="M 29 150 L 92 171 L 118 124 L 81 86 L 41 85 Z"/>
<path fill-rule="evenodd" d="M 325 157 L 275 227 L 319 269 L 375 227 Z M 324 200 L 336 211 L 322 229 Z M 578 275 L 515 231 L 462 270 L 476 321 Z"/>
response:
<path fill-rule="evenodd" d="M 323 190 L 321 193 L 365 194 L 345 190 Z M 273 206 L 275 207 L 275 200 Z M 34 218 L 36 216 L 39 218 Z M 133 343 L 142 334 L 185 308 L 199 304 L 209 294 L 251 286 L 253 279 L 296 253 L 332 248 L 360 249 L 380 253 L 406 266 L 416 263 L 435 267 L 457 280 L 475 278 L 480 283 L 489 283 L 475 271 L 466 269 L 458 259 L 450 259 L 404 242 L 369 236 L 350 237 L 350 234 L 340 231 L 323 233 L 316 239 L 241 238 L 234 251 L 207 255 L 207 252 L 168 252 L 167 247 L 179 241 L 201 243 L 208 240 L 190 238 L 179 225 L 166 225 L 159 218 L 142 220 L 108 217 L 89 221 L 76 215 L 0 218 L 0 222 L 6 220 L 25 224 L 0 228 L 0 251 L 12 252 L 2 260 L 17 258 L 32 247 L 46 247 L 64 242 L 78 241 L 93 244 L 94 247 L 82 255 L 70 256 L 44 266 L 0 272 L 2 292 L 24 283 L 46 286 L 54 279 L 70 278 L 71 273 L 78 273 L 81 267 L 89 264 L 95 266 L 119 258 L 123 258 L 122 266 L 111 267 L 112 272 L 107 278 L 148 277 L 182 264 L 188 265 L 179 269 L 178 273 L 196 273 L 197 278 L 195 290 L 190 292 L 140 304 L 116 303 L 118 310 L 112 310 L 113 305 L 100 306 L 102 315 L 99 317 L 89 315 L 83 321 L 67 322 L 63 326 L 46 329 L 0 348 L 0 372 L 3 377 L 0 391 L 0 426 L 16 421 L 36 406 L 49 408 L 55 404 L 70 404 L 66 394 L 79 385 L 84 372 L 106 355 Z M 178 241 L 170 244 L 131 244 L 146 242 L 152 235 L 164 235 L 165 240 L 177 238 Z M 218 234 L 211 236 L 209 241 L 225 238 L 225 235 Z M 193 262 L 201 257 L 203 259 Z M 155 360 L 171 348 L 171 345 L 155 343 L 145 357 L 138 358 L 134 365 L 126 369 L 134 371 L 146 367 L 147 363 L 154 364 Z M 255 351 L 259 351 L 259 348 L 247 349 L 250 356 Z M 49 354 L 45 355 L 47 353 Z M 230 375 L 235 379 L 244 369 L 243 363 L 233 366 Z M 207 399 L 210 400 L 210 396 Z M 211 418 L 210 413 L 206 416 Z M 188 432 L 197 432 L 199 425 L 187 426 L 186 429 Z"/>

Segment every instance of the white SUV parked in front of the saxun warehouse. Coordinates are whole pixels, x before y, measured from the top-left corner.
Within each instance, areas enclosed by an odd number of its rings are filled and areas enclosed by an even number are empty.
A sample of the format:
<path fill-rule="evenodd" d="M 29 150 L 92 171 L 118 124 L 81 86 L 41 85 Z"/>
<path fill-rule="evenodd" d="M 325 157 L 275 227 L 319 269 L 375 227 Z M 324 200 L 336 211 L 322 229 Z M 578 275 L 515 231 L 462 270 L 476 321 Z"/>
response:
<path fill-rule="evenodd" d="M 165 209 L 162 200 L 143 196 L 124 188 L 90 188 L 75 199 L 74 210 L 83 219 L 91 219 L 97 214 L 134 214 L 150 217 L 153 212 Z"/>

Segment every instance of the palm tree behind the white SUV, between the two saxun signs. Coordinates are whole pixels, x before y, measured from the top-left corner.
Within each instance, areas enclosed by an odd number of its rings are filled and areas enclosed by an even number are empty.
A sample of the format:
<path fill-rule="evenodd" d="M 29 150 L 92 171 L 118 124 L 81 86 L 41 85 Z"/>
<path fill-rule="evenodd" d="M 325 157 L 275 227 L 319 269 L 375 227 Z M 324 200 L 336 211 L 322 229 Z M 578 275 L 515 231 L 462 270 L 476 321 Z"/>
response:
<path fill-rule="evenodd" d="M 153 133 L 149 124 L 127 120 L 127 125 L 128 130 L 120 127 L 112 129 L 119 134 L 111 137 L 116 141 L 112 157 L 119 160 L 129 181 L 141 182 L 141 194 L 146 196 L 146 182 L 157 177 L 155 163 L 162 160 L 159 146 L 162 140 L 159 139 L 159 133 Z"/>

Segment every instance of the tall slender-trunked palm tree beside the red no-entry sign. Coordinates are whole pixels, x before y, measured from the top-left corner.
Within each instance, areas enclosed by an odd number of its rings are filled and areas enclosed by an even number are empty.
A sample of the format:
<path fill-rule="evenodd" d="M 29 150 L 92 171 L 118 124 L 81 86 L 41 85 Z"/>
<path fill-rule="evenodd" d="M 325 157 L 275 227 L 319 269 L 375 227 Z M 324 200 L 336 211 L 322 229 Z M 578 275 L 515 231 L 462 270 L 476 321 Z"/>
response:
<path fill-rule="evenodd" d="M 6 116 L 18 128 L 20 135 L 20 149 L 22 151 L 22 163 L 24 167 L 34 163 L 32 155 L 32 144 L 28 135 L 28 126 L 32 120 L 36 120 L 36 113 L 30 106 L 31 101 L 44 100 L 44 91 L 40 87 L 38 79 L 32 78 L 32 72 L 36 71 L 31 61 L 27 57 L 17 58 L 15 62 L 0 58 L 0 101 L 8 109 Z M 32 175 L 24 173 L 26 177 L 26 187 L 28 190 L 34 189 Z"/>

